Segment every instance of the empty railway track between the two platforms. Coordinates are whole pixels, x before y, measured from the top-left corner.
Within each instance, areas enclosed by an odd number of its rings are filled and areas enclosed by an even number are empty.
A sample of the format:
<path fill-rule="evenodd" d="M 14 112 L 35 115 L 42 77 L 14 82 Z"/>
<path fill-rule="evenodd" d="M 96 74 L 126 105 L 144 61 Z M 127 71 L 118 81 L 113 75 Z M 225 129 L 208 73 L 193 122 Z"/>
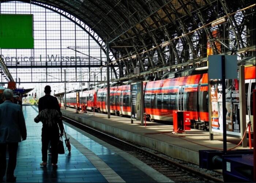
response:
<path fill-rule="evenodd" d="M 63 116 L 63 120 L 105 141 L 106 143 L 135 156 L 174 182 L 223 182 L 222 174 L 219 172 L 207 171 L 206 173 L 199 170 L 199 168 L 192 168 L 191 163 L 174 161 L 160 152 L 125 141 L 109 133 L 81 124 L 80 122 L 74 121 L 70 118 Z"/>

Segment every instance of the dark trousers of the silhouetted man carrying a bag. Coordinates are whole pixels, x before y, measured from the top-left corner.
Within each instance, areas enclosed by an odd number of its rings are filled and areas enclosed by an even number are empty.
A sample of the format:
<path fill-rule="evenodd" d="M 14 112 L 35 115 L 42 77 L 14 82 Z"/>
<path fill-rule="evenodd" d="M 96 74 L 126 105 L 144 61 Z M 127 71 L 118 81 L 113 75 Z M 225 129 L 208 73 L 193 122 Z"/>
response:
<path fill-rule="evenodd" d="M 52 163 L 56 164 L 58 162 L 59 128 L 42 128 L 42 161 L 44 162 L 47 162 L 49 142 L 52 149 Z"/>

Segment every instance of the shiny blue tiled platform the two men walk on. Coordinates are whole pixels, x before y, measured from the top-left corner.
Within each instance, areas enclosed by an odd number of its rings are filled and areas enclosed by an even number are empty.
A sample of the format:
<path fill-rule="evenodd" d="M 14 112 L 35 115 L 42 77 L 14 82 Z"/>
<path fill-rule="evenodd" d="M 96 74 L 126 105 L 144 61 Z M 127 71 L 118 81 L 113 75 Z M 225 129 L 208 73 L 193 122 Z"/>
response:
<path fill-rule="evenodd" d="M 128 153 L 69 124 L 64 128 L 71 139 L 71 153 L 59 155 L 57 170 L 52 170 L 50 158 L 47 167 L 40 167 L 42 124 L 34 122 L 35 107 L 23 106 L 23 113 L 27 140 L 19 143 L 16 182 L 172 182 Z"/>

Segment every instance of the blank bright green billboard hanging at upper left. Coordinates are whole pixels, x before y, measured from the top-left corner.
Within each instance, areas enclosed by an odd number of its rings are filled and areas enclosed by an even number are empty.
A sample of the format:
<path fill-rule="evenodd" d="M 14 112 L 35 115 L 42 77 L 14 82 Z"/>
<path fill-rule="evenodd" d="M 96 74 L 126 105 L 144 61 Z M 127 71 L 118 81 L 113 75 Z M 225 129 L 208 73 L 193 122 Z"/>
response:
<path fill-rule="evenodd" d="M 0 48 L 34 48 L 33 15 L 0 14 Z"/>

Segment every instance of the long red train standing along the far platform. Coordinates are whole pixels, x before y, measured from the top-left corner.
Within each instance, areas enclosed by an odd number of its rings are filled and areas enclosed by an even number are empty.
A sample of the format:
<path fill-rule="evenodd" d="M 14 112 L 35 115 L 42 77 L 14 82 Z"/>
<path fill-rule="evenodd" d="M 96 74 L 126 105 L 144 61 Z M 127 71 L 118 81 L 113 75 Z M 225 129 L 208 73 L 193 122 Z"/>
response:
<path fill-rule="evenodd" d="M 255 86 L 255 66 L 245 67 L 246 120 L 252 121 L 252 90 Z M 110 87 L 110 113 L 131 115 L 130 85 Z M 108 112 L 107 89 L 76 91 L 67 94 L 67 106 L 76 101 L 88 109 Z M 151 121 L 172 121 L 174 111 L 190 113 L 194 128 L 208 130 L 208 75 L 196 74 L 172 79 L 145 82 L 144 112 Z"/>

